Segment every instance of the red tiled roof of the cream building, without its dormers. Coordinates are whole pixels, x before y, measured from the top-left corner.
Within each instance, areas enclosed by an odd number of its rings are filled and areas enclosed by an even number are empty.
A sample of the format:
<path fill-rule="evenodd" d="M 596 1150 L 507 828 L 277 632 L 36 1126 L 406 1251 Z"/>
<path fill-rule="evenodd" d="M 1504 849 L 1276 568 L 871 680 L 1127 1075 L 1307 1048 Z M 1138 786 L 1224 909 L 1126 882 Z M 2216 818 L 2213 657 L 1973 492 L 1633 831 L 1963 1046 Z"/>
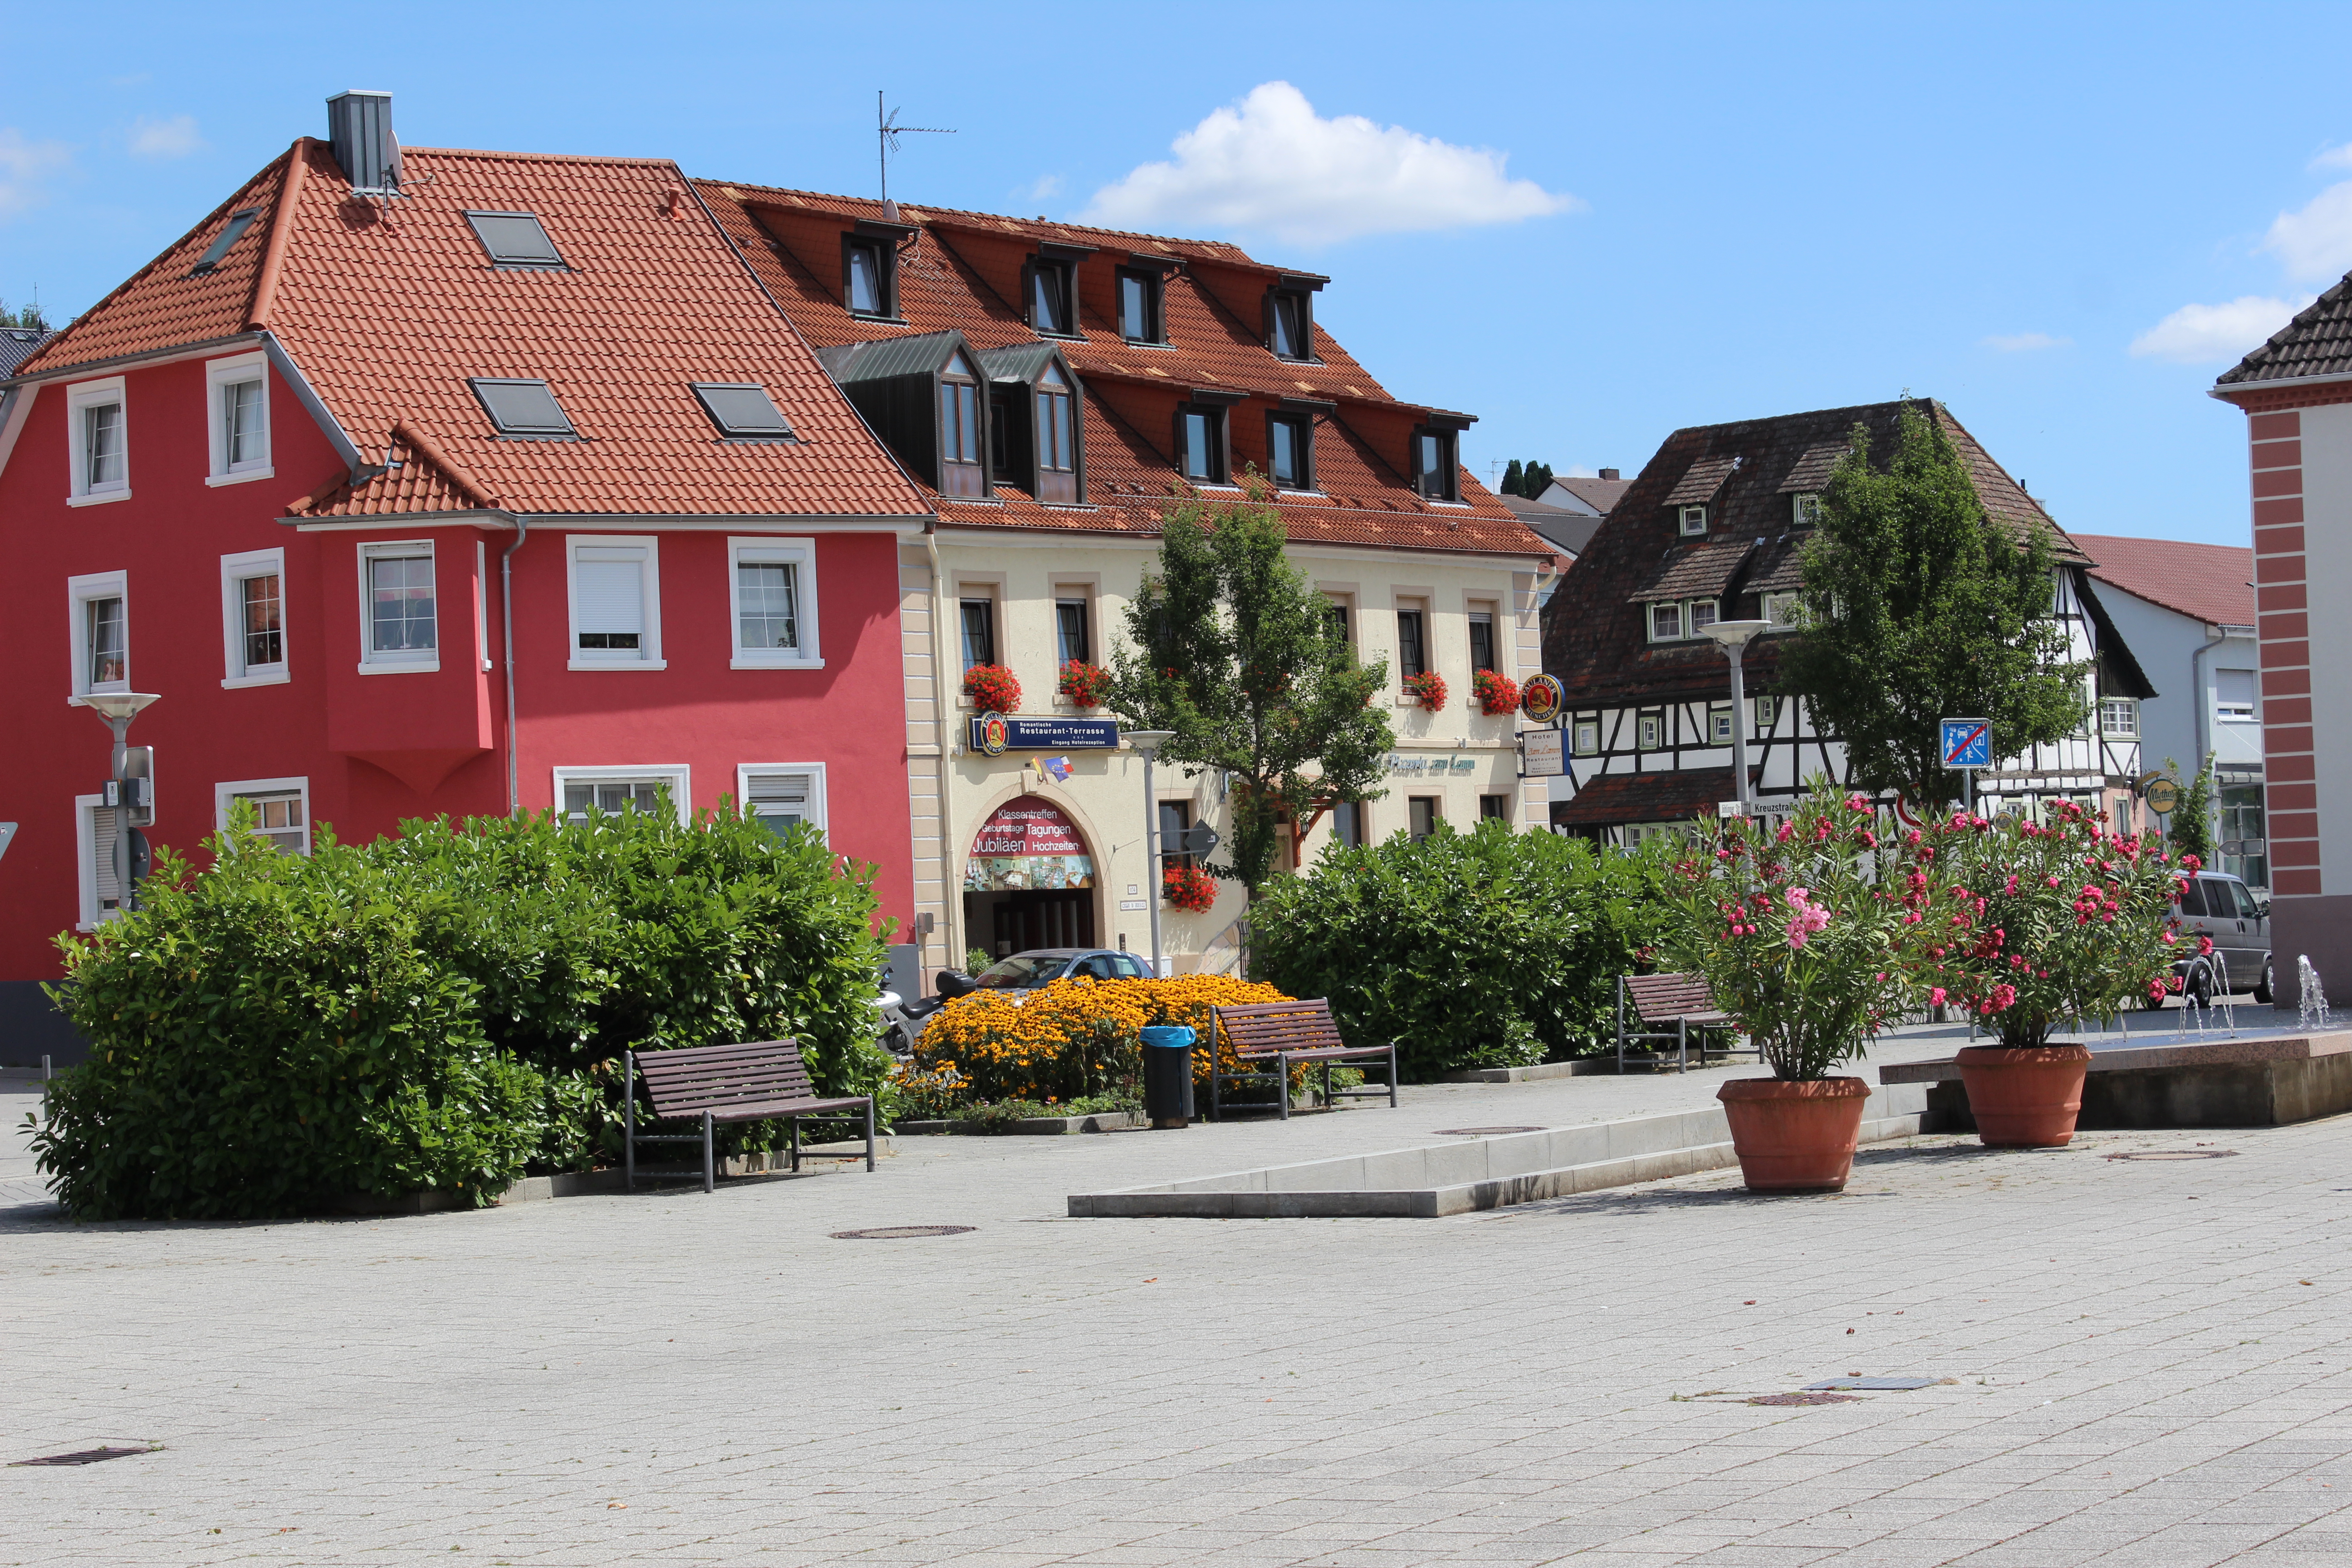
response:
<path fill-rule="evenodd" d="M 1044 505 L 997 482 L 990 501 L 924 496 L 943 522 L 1096 534 L 1157 534 L 1181 489 L 1174 463 L 1174 400 L 1192 390 L 1249 397 L 1258 409 L 1294 397 L 1327 404 L 1315 435 L 1319 494 L 1279 494 L 1282 517 L 1296 541 L 1359 543 L 1406 550 L 1503 552 L 1550 559 L 1517 517 L 1468 473 L 1468 505 L 1430 505 L 1399 473 L 1411 428 L 1439 416 L 1404 404 L 1371 378 L 1329 329 L 1315 324 L 1317 364 L 1277 360 L 1261 339 L 1263 292 L 1279 280 L 1319 282 L 1303 273 L 1254 261 L 1214 240 L 1131 235 L 1075 223 L 1047 223 L 938 207 L 898 207 L 814 190 L 779 190 L 696 181 L 720 228 L 741 249 L 793 324 L 830 350 L 938 331 L 960 331 L 981 362 L 997 367 L 1023 355 L 1058 350 L 1080 376 L 1087 503 Z M 898 322 L 851 315 L 840 292 L 840 237 L 856 223 L 896 221 Z M 1077 336 L 1040 339 L 1021 308 L 1021 263 L 1040 247 L 1084 247 L 1080 263 Z M 1105 315 L 1103 266 L 1148 261 L 1162 270 L 1167 346 L 1136 346 Z M 1096 282 L 1105 287 L 1094 287 Z M 1242 421 L 1251 421 L 1244 428 Z M 1461 416 L 1454 416 L 1456 421 Z M 1235 447 L 1263 440 L 1258 411 L 1235 411 Z M 1240 468 L 1240 465 L 1237 465 Z"/>

